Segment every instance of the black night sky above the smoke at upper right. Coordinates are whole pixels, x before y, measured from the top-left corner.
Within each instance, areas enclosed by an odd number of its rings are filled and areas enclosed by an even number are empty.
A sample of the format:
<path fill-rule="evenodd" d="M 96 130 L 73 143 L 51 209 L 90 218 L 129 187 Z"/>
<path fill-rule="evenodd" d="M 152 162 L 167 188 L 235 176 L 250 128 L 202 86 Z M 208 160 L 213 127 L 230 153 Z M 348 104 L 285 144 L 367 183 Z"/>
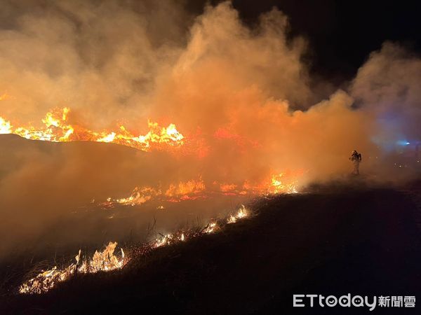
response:
<path fill-rule="evenodd" d="M 216 4 L 220 1 L 210 1 Z M 206 1 L 190 0 L 200 11 Z M 421 51 L 419 1 L 233 0 L 247 24 L 260 13 L 279 8 L 290 19 L 291 35 L 309 41 L 312 72 L 338 80 L 354 77 L 370 52 L 384 41 Z"/>

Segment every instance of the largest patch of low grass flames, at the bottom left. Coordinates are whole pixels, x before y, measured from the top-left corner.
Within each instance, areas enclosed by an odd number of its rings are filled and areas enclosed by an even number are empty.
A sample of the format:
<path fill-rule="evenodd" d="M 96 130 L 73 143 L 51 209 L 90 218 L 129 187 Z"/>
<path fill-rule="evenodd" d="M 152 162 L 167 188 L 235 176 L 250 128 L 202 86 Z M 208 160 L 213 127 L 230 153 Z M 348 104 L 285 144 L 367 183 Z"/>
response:
<path fill-rule="evenodd" d="M 114 255 L 114 250 L 117 246 L 116 242 L 110 241 L 105 247 L 104 251 L 95 251 L 91 260 L 81 260 L 81 251 L 75 256 L 76 264 L 72 263 L 69 266 L 59 269 L 54 266 L 39 273 L 32 279 L 29 279 L 19 287 L 19 293 L 44 293 L 54 288 L 57 283 L 68 280 L 76 273 L 92 274 L 100 271 L 110 271 L 114 269 L 121 269 L 125 263 L 125 255 L 123 248 L 121 248 L 121 257 Z"/>

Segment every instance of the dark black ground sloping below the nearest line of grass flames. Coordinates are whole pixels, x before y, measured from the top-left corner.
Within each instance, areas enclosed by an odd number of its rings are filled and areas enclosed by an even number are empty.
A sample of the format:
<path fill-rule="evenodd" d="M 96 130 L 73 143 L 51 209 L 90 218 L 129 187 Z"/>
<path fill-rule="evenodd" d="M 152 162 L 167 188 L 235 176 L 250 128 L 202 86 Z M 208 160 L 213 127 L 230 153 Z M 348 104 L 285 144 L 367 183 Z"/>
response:
<path fill-rule="evenodd" d="M 254 218 L 79 276 L 1 314 L 421 314 L 420 185 L 319 186 L 262 199 Z M 418 203 L 418 204 L 417 204 Z M 293 293 L 415 295 L 415 309 L 293 308 Z"/>

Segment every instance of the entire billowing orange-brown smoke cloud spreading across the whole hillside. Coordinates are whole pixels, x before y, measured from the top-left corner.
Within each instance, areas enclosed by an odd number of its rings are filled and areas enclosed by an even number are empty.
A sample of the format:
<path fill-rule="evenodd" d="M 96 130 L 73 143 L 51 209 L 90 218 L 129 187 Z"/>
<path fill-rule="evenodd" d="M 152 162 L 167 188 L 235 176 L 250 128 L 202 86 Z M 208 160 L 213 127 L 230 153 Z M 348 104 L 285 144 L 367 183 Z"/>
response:
<path fill-rule="evenodd" d="M 303 61 L 308 44 L 288 36 L 288 18 L 276 8 L 252 27 L 229 2 L 196 17 L 170 0 L 2 1 L 2 8 L 0 116 L 36 125 L 49 109 L 68 106 L 70 123 L 100 130 L 123 122 L 133 132 L 152 118 L 175 123 L 193 148 L 171 155 L 5 140 L 1 228 L 14 241 L 135 186 L 199 176 L 259 182 L 288 170 L 300 170 L 305 185 L 348 173 L 354 149 L 368 172 L 390 143 L 420 137 L 421 62 L 396 43 L 373 52 L 349 89 L 320 101 Z"/>

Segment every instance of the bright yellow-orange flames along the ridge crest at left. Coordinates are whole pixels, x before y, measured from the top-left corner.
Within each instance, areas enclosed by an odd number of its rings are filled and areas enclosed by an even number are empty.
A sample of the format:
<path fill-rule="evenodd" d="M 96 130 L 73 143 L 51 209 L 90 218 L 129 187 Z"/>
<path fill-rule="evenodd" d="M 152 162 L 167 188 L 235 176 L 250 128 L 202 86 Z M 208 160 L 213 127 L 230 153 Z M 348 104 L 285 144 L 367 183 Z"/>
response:
<path fill-rule="evenodd" d="M 8 120 L 0 117 L 1 134 L 18 134 L 20 137 L 42 141 L 97 141 L 130 146 L 142 151 L 162 146 L 180 147 L 185 137 L 178 132 L 177 127 L 171 123 L 168 127 L 161 127 L 158 123 L 148 120 L 149 131 L 145 135 L 135 135 L 123 125 L 116 131 L 95 132 L 68 122 L 70 109 L 53 109 L 46 113 L 42 119 L 44 127 L 35 128 L 15 127 Z"/>

